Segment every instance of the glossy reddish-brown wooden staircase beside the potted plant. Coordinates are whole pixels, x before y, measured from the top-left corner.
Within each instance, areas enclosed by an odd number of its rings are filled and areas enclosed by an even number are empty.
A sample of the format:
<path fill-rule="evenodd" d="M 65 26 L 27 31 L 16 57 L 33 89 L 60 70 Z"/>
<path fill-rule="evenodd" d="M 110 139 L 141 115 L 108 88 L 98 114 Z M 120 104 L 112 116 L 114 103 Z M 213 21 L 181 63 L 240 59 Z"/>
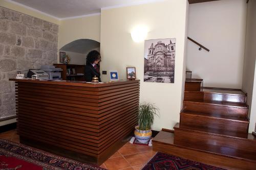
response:
<path fill-rule="evenodd" d="M 226 169 L 256 169 L 256 138 L 248 134 L 246 94 L 239 89 L 201 88 L 185 82 L 180 123 L 162 129 L 153 150 Z"/>

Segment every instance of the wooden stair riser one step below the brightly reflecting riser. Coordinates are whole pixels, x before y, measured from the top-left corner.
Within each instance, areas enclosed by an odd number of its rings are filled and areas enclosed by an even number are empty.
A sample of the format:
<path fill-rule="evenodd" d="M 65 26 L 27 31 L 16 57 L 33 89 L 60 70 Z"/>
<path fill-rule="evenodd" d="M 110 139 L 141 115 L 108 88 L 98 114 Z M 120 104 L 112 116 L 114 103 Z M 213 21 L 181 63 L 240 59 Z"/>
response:
<path fill-rule="evenodd" d="M 184 109 L 189 111 L 195 111 L 195 112 L 222 114 L 222 115 L 240 116 L 240 117 L 244 117 L 247 115 L 247 108 L 209 105 L 205 103 L 197 104 L 197 103 L 184 102 Z"/>

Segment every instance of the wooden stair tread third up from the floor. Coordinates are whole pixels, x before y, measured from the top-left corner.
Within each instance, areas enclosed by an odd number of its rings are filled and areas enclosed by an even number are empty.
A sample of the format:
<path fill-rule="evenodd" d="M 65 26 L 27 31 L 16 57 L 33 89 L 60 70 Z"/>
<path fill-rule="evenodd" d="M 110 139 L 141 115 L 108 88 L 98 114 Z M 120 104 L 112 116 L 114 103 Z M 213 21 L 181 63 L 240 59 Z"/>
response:
<path fill-rule="evenodd" d="M 218 118 L 218 119 L 226 119 L 226 120 L 233 120 L 237 122 L 244 122 L 248 123 L 247 117 L 238 117 L 238 116 L 230 116 L 230 115 L 222 115 L 222 114 L 212 114 L 212 113 L 203 113 L 203 112 L 195 112 L 195 111 L 189 111 L 189 110 L 183 110 L 181 114 L 190 114 L 195 116 L 204 116 L 209 118 Z"/>

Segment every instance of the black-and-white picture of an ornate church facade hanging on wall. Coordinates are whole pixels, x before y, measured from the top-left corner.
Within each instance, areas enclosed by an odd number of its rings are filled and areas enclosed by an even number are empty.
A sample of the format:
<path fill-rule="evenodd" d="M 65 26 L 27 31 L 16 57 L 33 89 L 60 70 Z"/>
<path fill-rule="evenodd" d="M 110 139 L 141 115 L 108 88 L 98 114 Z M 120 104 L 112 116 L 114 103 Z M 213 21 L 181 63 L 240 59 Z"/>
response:
<path fill-rule="evenodd" d="M 144 82 L 174 83 L 176 38 L 145 40 Z"/>

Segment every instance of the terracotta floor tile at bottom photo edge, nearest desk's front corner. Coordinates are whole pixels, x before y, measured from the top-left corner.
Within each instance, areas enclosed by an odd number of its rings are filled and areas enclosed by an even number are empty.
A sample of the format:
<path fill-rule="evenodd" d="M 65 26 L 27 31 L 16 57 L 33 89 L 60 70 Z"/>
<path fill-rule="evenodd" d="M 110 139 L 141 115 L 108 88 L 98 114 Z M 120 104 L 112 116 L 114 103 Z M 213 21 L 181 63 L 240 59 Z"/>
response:
<path fill-rule="evenodd" d="M 107 169 L 118 170 L 131 167 L 130 164 L 122 157 L 110 158 L 104 162 Z"/>

